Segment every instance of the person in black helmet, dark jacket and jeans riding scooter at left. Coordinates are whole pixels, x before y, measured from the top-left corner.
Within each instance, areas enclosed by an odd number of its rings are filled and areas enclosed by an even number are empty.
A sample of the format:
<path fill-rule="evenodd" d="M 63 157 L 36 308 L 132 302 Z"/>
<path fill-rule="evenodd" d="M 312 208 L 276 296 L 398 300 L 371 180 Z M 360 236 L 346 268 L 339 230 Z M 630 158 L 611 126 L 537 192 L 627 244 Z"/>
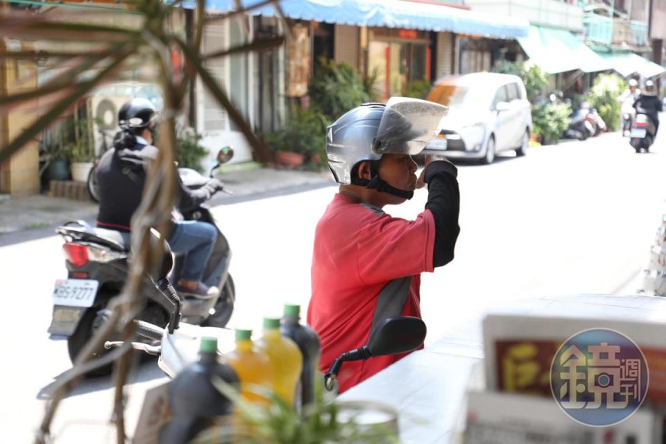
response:
<path fill-rule="evenodd" d="M 132 99 L 118 113 L 121 130 L 115 135 L 113 148 L 106 152 L 97 169 L 100 199 L 97 225 L 112 230 L 130 231 L 130 220 L 141 203 L 146 171 L 157 157 L 153 136 L 157 128 L 157 110 L 147 99 Z M 222 183 L 211 179 L 203 187 L 187 189 L 176 172 L 180 194 L 178 209 L 189 210 L 222 189 Z M 175 253 L 185 253 L 181 278 L 176 289 L 198 298 L 212 298 L 219 293 L 207 287 L 201 278 L 217 237 L 210 223 L 172 220 L 169 246 Z"/>

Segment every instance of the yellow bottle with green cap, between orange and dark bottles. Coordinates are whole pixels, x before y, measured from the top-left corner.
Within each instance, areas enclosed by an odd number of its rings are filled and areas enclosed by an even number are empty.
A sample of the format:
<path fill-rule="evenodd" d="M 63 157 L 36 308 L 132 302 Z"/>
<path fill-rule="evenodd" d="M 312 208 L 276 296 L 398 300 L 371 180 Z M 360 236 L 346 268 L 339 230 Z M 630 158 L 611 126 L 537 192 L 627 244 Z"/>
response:
<path fill-rule="evenodd" d="M 296 343 L 282 337 L 279 318 L 264 318 L 264 334 L 262 339 L 257 341 L 257 347 L 264 350 L 273 363 L 273 391 L 284 402 L 295 407 L 294 399 L 303 368 L 303 356 Z"/>

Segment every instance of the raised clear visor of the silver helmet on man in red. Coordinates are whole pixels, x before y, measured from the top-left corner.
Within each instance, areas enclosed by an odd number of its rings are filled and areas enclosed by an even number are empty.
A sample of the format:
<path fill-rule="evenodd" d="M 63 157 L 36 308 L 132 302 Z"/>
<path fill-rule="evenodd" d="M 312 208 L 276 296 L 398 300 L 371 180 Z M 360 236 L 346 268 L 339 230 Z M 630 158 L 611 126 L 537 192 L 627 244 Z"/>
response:
<path fill-rule="evenodd" d="M 377 154 L 414 155 L 441 130 L 447 107 L 409 97 L 391 97 L 377 129 L 373 151 Z"/>

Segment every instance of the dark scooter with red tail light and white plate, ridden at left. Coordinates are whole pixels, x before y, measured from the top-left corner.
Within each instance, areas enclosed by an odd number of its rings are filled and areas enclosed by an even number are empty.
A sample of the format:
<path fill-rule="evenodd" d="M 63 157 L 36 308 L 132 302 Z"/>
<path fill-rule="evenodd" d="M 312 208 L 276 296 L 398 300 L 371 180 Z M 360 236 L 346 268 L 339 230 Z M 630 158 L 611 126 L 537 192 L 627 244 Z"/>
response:
<path fill-rule="evenodd" d="M 223 149 L 218 154 L 218 163 L 210 176 L 233 155 L 231 148 Z M 194 170 L 182 173 L 187 187 L 196 188 L 208 178 Z M 228 192 L 228 191 L 226 191 Z M 200 205 L 183 214 L 185 220 L 212 223 L 210 210 Z M 104 309 L 108 302 L 118 296 L 128 278 L 130 252 L 129 233 L 103 228 L 94 228 L 84 221 L 69 222 L 58 228 L 58 233 L 65 239 L 65 256 L 68 278 L 57 280 L 53 291 L 53 318 L 49 332 L 58 336 L 67 336 L 67 349 L 72 361 L 94 331 L 103 323 Z M 231 250 L 224 235 L 217 228 L 217 239 L 210 259 L 205 268 L 203 282 L 221 289 L 219 296 L 210 299 L 185 298 L 182 300 L 182 318 L 197 325 L 223 327 L 231 318 L 235 289 L 229 275 Z M 169 250 L 170 251 L 170 250 Z M 171 279 L 178 280 L 182 270 L 182 255 L 177 255 L 171 271 Z M 171 268 L 171 267 L 169 267 Z M 216 276 L 220 276 L 219 280 Z M 171 314 L 171 303 L 165 300 L 159 289 L 155 289 L 153 279 L 144 278 L 146 305 L 139 318 L 154 325 L 166 325 Z M 179 313 L 180 313 L 179 308 Z M 108 372 L 104 368 L 99 374 Z"/>

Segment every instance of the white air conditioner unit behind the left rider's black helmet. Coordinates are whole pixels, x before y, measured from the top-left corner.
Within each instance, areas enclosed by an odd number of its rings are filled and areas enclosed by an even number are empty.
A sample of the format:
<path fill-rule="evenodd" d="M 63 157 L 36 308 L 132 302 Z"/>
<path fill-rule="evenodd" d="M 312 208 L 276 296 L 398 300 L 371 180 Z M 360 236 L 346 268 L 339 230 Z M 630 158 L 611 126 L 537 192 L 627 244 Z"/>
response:
<path fill-rule="evenodd" d="M 89 121 L 92 122 L 92 137 L 95 141 L 95 155 L 102 155 L 104 146 L 111 148 L 113 136 L 120 130 L 118 111 L 131 96 L 92 96 L 88 98 Z"/>

